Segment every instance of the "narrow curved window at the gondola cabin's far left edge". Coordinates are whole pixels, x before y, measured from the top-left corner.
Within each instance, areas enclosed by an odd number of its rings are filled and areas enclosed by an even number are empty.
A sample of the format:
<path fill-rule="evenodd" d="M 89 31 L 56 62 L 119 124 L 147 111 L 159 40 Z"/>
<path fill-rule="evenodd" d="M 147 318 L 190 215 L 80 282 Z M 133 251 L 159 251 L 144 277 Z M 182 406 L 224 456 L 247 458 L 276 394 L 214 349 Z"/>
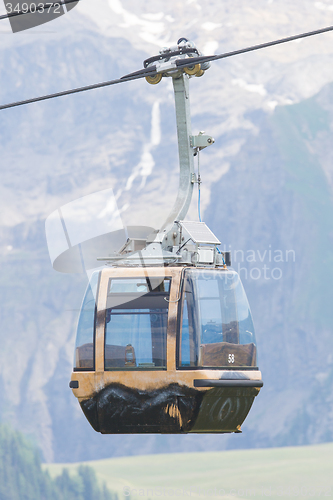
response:
<path fill-rule="evenodd" d="M 94 370 L 96 296 L 99 272 L 93 273 L 83 299 L 75 344 L 75 370 Z"/>

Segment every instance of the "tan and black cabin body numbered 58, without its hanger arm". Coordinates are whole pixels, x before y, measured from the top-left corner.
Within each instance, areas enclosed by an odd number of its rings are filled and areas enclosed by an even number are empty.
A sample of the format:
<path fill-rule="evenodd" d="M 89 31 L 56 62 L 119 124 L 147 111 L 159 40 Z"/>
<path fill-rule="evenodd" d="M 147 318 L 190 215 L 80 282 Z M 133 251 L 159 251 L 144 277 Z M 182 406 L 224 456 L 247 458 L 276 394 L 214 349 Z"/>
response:
<path fill-rule="evenodd" d="M 93 274 L 71 387 L 96 431 L 237 432 L 261 386 L 237 273 L 170 266 Z"/>

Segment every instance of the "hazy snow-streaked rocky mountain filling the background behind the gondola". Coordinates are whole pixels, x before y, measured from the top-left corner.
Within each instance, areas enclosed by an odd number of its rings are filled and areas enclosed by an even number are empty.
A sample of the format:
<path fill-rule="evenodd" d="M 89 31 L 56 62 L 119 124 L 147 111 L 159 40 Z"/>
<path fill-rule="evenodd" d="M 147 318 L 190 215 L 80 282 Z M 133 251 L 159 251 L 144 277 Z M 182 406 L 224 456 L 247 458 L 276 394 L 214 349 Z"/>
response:
<path fill-rule="evenodd" d="M 27 32 L 2 21 L 0 102 L 117 78 L 180 36 L 221 53 L 332 21 L 330 1 L 82 0 Z M 97 435 L 68 389 L 86 278 L 52 269 L 45 219 L 113 188 L 125 225 L 159 226 L 178 185 L 171 82 L 0 113 L 0 418 L 45 460 L 332 440 L 332 36 L 225 59 L 190 82 L 193 132 L 215 137 L 200 159 L 203 218 L 248 293 L 265 382 L 241 435 Z"/>

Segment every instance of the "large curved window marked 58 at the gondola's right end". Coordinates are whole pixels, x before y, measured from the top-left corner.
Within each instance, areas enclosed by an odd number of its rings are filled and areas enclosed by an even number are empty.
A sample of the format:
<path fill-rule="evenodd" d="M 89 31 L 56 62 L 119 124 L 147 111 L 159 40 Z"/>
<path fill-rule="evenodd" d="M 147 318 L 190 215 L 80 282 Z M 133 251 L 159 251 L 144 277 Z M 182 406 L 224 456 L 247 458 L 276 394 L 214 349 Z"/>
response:
<path fill-rule="evenodd" d="M 180 312 L 179 367 L 256 366 L 251 312 L 237 273 L 186 269 Z"/>

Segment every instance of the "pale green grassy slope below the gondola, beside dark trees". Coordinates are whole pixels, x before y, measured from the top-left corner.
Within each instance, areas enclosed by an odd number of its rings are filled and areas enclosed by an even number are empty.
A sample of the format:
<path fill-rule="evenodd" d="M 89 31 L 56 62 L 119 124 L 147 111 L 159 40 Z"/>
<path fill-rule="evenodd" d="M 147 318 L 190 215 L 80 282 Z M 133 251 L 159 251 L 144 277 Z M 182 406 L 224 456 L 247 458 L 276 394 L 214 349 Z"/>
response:
<path fill-rule="evenodd" d="M 52 476 L 63 467 L 45 464 Z M 333 443 L 111 458 L 85 462 L 119 500 L 333 497 Z"/>

